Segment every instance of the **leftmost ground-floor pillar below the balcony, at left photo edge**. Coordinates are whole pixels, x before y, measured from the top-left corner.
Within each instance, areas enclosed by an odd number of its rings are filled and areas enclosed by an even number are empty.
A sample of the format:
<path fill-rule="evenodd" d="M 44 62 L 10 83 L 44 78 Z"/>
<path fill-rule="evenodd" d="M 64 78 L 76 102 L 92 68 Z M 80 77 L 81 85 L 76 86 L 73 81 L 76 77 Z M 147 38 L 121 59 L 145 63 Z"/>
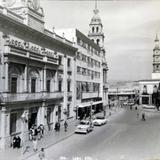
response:
<path fill-rule="evenodd" d="M 5 135 L 6 135 L 6 125 L 7 125 L 7 121 L 6 121 L 6 108 L 2 107 L 2 111 L 1 111 L 1 148 L 4 149 L 5 148 Z"/>

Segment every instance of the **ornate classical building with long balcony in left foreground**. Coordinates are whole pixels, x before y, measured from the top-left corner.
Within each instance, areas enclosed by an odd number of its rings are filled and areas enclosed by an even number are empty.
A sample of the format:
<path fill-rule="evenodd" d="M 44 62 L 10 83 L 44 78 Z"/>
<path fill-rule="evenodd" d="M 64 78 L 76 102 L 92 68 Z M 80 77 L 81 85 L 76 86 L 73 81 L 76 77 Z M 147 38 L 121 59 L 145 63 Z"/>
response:
<path fill-rule="evenodd" d="M 37 1 L 38 2 L 38 1 Z M 0 5 L 0 147 L 29 128 L 74 117 L 74 44 L 44 27 L 34 1 Z"/>

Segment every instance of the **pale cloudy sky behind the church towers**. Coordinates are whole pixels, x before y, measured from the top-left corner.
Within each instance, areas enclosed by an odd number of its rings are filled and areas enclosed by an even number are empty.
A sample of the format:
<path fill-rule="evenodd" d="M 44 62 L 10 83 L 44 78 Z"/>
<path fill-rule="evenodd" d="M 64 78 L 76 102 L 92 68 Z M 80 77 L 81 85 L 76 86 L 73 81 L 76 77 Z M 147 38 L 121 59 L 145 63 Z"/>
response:
<path fill-rule="evenodd" d="M 41 0 L 48 29 L 77 28 L 85 35 L 95 1 Z M 160 0 L 97 0 L 105 34 L 109 81 L 150 79 Z"/>

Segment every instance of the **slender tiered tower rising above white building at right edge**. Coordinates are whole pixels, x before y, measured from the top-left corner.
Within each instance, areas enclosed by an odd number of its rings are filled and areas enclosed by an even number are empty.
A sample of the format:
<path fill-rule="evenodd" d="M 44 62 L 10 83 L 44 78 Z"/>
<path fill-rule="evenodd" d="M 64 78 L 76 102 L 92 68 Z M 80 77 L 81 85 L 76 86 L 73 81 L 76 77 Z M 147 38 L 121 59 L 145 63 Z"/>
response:
<path fill-rule="evenodd" d="M 155 47 L 153 49 L 152 79 L 160 79 L 160 47 L 159 47 L 159 39 L 157 34 L 154 41 L 155 41 Z"/>

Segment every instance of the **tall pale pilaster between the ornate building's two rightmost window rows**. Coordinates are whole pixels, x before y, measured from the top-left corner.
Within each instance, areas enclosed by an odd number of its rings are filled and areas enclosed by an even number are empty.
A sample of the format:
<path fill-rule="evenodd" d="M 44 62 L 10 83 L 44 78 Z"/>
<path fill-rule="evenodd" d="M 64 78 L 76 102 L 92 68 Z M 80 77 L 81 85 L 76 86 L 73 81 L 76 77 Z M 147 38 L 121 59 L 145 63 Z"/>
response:
<path fill-rule="evenodd" d="M 64 60 L 63 60 L 63 93 L 64 93 L 64 97 L 63 97 L 63 110 L 67 111 L 67 56 L 64 56 Z M 64 120 L 67 119 L 67 115 L 64 115 Z"/>

